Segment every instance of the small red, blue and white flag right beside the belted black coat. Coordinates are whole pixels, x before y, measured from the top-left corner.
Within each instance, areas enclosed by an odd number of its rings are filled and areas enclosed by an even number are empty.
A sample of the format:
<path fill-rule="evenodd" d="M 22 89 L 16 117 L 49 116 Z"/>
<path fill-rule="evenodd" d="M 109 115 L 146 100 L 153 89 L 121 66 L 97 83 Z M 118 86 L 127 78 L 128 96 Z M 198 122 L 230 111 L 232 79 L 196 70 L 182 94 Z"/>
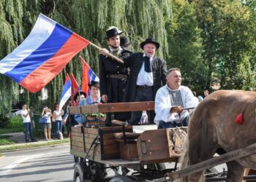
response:
<path fill-rule="evenodd" d="M 92 80 L 99 82 L 99 77 L 92 71 L 90 66 L 86 63 L 81 56 L 79 56 L 80 60 L 83 63 L 83 82 L 82 82 L 82 91 L 86 92 L 89 95 L 89 86 L 88 84 L 91 83 Z"/>

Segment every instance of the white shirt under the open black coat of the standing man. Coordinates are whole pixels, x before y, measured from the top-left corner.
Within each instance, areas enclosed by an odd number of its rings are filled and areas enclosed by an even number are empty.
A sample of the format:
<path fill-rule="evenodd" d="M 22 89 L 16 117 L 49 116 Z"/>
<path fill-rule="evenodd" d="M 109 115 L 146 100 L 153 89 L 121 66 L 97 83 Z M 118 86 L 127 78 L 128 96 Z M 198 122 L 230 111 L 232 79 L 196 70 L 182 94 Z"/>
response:
<path fill-rule="evenodd" d="M 143 57 L 144 56 L 146 56 L 145 53 L 143 54 Z M 151 70 L 152 70 L 152 60 L 153 60 L 153 57 L 151 57 L 149 59 Z M 142 66 L 140 68 L 140 72 L 138 74 L 136 84 L 137 85 L 148 85 L 148 86 L 153 86 L 153 84 L 154 84 L 153 71 L 151 71 L 150 73 L 145 71 L 145 62 L 143 62 Z"/>

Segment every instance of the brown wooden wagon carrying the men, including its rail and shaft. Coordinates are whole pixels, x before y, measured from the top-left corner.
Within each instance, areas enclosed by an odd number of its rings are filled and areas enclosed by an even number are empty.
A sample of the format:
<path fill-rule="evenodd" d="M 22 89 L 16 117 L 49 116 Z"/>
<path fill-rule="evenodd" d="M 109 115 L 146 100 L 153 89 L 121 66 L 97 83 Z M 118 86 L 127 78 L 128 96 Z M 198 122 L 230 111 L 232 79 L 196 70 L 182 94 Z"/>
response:
<path fill-rule="evenodd" d="M 151 110 L 154 110 L 154 102 L 107 103 L 69 107 L 69 114 Z M 256 152 L 253 145 L 174 172 L 181 154 L 181 150 L 176 151 L 174 133 L 181 131 L 186 132 L 187 128 L 157 130 L 156 125 L 131 126 L 119 121 L 113 121 L 112 127 L 97 124 L 72 127 L 70 153 L 75 157 L 74 181 L 173 181 Z M 183 141 L 179 139 L 178 147 L 181 147 Z M 173 165 L 166 167 L 163 162 L 173 162 Z M 113 170 L 112 175 L 107 174 L 109 170 Z M 217 181 L 216 176 L 225 178 L 225 171 L 209 176 L 214 178 L 208 181 Z"/>

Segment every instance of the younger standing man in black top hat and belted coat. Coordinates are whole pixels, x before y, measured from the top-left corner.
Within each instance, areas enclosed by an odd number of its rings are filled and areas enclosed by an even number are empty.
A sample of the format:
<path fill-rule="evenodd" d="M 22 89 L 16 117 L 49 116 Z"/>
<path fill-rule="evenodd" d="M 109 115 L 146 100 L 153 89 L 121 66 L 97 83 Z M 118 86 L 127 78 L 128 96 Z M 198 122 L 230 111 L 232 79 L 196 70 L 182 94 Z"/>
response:
<path fill-rule="evenodd" d="M 111 52 L 121 60 L 132 54 L 129 50 L 120 47 L 119 35 L 122 31 L 112 26 L 106 31 L 108 52 Z M 99 90 L 103 103 L 119 103 L 123 101 L 124 91 L 127 85 L 128 68 L 118 66 L 116 60 L 108 55 L 99 55 Z M 116 113 L 115 119 L 126 120 L 127 115 Z M 111 114 L 107 115 L 106 126 L 111 126 Z"/>

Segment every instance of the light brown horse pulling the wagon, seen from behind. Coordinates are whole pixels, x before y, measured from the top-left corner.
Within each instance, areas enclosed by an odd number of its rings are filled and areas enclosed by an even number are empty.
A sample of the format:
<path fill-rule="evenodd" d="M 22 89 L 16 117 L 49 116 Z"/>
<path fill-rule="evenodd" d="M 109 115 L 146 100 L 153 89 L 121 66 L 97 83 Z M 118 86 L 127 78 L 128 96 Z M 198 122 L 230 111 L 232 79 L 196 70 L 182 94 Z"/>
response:
<path fill-rule="evenodd" d="M 217 154 L 256 143 L 256 92 L 219 90 L 211 93 L 195 109 L 189 121 L 187 151 L 181 168 L 210 159 Z M 244 123 L 235 122 L 243 114 Z M 256 154 L 227 162 L 227 180 L 242 181 L 244 167 L 256 170 Z M 200 181 L 202 173 L 181 181 Z"/>

